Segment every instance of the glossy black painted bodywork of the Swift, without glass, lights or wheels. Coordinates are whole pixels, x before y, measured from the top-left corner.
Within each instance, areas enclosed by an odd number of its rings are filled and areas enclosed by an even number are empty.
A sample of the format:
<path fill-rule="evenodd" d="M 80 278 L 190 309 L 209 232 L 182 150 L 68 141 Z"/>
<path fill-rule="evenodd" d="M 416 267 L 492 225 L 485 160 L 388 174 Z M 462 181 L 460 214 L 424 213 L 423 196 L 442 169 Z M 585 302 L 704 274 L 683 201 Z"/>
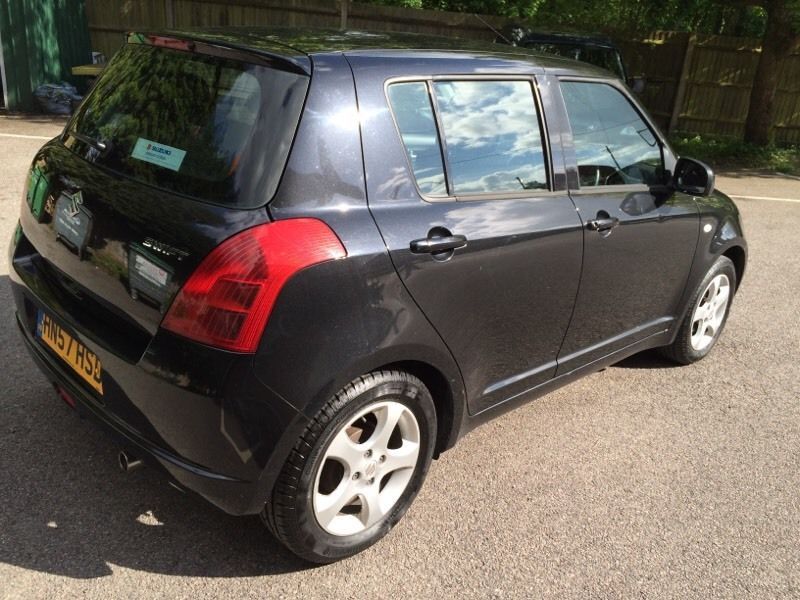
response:
<path fill-rule="evenodd" d="M 505 410 L 669 343 L 691 291 L 721 254 L 743 271 L 738 211 L 720 192 L 579 190 L 558 79 L 597 78 L 599 70 L 496 46 L 430 50 L 444 45 L 427 38 L 296 33 L 276 42 L 275 35 L 191 34 L 310 66 L 303 116 L 271 201 L 232 209 L 147 188 L 56 139 L 35 164 L 47 174 L 47 195 L 81 191 L 91 215 L 86 248 L 56 241 L 53 206 L 34 200 L 23 201 L 23 233 L 10 250 L 19 328 L 48 378 L 123 446 L 222 509 L 258 512 L 308 419 L 361 374 L 398 365 L 423 378 L 434 392 L 443 451 Z M 454 74 L 536 83 L 550 191 L 470 201 L 420 196 L 384 85 Z M 661 143 L 672 169 L 676 157 Z M 590 230 L 600 211 L 620 225 Z M 220 242 L 300 216 L 325 221 L 347 258 L 289 280 L 255 355 L 159 327 L 180 285 Z M 467 245 L 446 261 L 412 253 L 409 243 L 435 227 L 466 236 Z M 162 302 L 131 294 L 133 247 L 169 269 Z M 35 339 L 40 309 L 100 357 L 102 397 Z"/>

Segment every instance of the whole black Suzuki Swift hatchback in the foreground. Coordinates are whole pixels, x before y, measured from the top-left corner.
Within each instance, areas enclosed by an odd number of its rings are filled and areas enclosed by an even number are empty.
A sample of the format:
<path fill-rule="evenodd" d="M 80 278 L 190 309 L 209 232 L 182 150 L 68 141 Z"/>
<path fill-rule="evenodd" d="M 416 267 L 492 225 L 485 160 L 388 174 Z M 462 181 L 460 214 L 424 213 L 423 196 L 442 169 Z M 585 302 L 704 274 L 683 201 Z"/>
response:
<path fill-rule="evenodd" d="M 131 34 L 31 167 L 20 333 L 130 468 L 329 562 L 476 425 L 705 356 L 736 206 L 614 75 L 357 33 Z"/>

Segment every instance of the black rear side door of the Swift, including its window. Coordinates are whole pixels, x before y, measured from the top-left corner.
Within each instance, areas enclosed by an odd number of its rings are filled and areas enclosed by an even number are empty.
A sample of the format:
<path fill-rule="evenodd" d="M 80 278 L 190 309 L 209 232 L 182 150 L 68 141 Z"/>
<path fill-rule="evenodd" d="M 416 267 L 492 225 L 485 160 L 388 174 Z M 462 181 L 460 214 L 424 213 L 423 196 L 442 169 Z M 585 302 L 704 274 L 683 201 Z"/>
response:
<path fill-rule="evenodd" d="M 553 171 L 563 161 L 549 159 L 535 80 L 475 77 L 474 60 L 349 60 L 370 210 L 461 369 L 470 412 L 548 381 L 582 233 L 563 166 Z"/>

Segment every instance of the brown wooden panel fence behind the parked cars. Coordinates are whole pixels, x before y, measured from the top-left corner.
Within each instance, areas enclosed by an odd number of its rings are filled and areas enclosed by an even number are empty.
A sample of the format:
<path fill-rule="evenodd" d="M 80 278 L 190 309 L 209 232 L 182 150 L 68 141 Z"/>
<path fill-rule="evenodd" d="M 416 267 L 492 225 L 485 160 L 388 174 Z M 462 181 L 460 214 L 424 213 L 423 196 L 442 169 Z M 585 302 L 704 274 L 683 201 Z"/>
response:
<path fill-rule="evenodd" d="M 93 50 L 116 52 L 132 29 L 270 26 L 411 31 L 491 41 L 500 17 L 338 0 L 86 0 Z M 535 25 L 534 25 L 535 27 Z M 665 130 L 740 136 L 758 62 L 747 38 L 660 31 L 611 34 L 632 75 L 644 75 L 645 106 Z M 776 140 L 800 143 L 800 54 L 781 65 Z"/>

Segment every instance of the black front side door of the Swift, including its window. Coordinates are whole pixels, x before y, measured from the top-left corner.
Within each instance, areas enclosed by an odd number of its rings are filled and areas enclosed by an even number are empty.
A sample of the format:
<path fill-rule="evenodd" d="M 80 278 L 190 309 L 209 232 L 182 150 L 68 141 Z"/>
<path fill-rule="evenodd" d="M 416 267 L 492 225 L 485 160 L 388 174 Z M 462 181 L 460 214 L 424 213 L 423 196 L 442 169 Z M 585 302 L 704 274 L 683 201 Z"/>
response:
<path fill-rule="evenodd" d="M 621 84 L 560 81 L 570 195 L 583 223 L 580 289 L 559 354 L 568 373 L 667 330 L 698 238 L 692 196 L 669 191 L 674 159 Z M 667 165 L 669 166 L 669 165 Z"/>

